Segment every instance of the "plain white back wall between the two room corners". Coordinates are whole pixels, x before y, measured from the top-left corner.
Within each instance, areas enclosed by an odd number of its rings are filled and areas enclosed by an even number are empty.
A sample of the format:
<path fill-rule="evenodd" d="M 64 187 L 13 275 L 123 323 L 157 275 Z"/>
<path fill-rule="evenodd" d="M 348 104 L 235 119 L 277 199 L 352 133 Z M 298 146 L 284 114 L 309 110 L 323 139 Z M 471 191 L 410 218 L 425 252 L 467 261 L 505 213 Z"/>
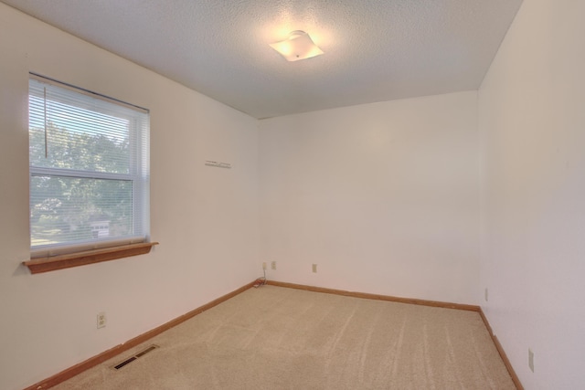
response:
<path fill-rule="evenodd" d="M 477 304 L 476 98 L 261 121 L 261 260 L 277 261 L 269 279 Z"/>

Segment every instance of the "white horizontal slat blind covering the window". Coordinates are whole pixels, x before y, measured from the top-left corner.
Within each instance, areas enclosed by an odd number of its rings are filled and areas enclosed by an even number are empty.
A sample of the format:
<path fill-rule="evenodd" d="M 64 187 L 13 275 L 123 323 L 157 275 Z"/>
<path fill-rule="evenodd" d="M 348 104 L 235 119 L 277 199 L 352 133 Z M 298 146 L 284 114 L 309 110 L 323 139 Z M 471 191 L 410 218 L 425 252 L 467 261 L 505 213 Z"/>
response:
<path fill-rule="evenodd" d="M 32 74 L 28 95 L 33 257 L 146 240 L 148 111 Z"/>

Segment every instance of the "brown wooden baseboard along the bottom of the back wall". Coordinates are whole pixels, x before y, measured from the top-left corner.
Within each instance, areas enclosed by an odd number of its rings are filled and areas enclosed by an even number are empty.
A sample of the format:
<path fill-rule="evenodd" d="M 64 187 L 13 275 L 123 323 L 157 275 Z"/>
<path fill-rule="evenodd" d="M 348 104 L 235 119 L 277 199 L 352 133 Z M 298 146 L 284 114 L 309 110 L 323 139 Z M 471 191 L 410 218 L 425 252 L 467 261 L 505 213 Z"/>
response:
<path fill-rule="evenodd" d="M 364 298 L 367 300 L 388 300 L 391 302 L 410 303 L 412 305 L 432 306 L 436 308 L 457 309 L 462 311 L 480 311 L 479 306 L 466 305 L 463 303 L 441 302 L 439 300 L 416 300 L 411 298 L 392 297 L 389 295 L 368 294 L 366 292 L 324 289 L 323 287 L 305 286 L 303 284 L 286 283 L 283 281 L 268 280 L 266 284 L 279 287 L 287 287 L 289 289 L 307 290 L 314 292 L 324 292 L 327 294 L 344 295 L 346 297 Z"/>

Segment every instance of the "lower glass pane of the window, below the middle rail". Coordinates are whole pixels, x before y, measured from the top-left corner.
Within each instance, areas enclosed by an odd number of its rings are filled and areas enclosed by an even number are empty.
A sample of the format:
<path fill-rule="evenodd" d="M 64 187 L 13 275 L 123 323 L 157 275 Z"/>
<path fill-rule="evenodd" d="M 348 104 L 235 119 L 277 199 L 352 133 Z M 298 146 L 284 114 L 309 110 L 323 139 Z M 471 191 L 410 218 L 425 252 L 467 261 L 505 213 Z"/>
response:
<path fill-rule="evenodd" d="M 32 246 L 133 234 L 133 183 L 129 180 L 32 176 Z"/>

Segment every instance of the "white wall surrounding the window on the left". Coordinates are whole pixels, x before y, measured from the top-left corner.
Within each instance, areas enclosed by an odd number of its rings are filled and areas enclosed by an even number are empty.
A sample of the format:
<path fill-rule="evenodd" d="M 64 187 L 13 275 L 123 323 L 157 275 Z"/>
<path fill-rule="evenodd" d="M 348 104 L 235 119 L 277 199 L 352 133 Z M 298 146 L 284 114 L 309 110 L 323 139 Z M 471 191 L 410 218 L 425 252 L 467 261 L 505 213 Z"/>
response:
<path fill-rule="evenodd" d="M 35 71 L 151 110 L 149 255 L 30 275 Z M 257 276 L 258 121 L 0 4 L 0 388 L 19 389 Z M 233 169 L 204 165 L 232 163 Z M 96 314 L 108 324 L 96 329 Z"/>

